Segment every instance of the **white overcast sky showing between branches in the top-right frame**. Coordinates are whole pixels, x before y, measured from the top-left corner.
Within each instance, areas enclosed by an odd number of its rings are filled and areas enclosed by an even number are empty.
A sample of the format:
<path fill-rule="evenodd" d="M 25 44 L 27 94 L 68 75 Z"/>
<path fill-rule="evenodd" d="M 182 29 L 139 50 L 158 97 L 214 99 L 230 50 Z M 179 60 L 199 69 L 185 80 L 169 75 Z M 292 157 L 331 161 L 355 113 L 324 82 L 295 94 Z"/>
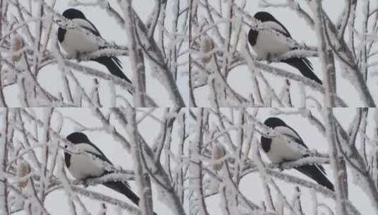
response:
<path fill-rule="evenodd" d="M 215 6 L 215 8 L 218 8 L 218 0 L 210 0 L 210 4 Z M 240 5 L 240 0 L 236 0 L 235 2 L 238 2 Z M 290 10 L 289 8 L 261 8 L 259 7 L 259 0 L 254 1 L 246 1 L 247 6 L 245 7 L 245 10 L 249 12 L 251 16 L 254 15 L 254 13 L 258 11 L 268 11 L 271 13 L 274 17 L 280 21 L 290 32 L 290 35 L 292 35 L 293 39 L 297 42 L 305 42 L 306 45 L 309 46 L 317 46 L 317 34 L 314 30 L 312 30 L 309 25 L 305 22 L 303 18 L 300 18 L 297 16 L 297 13 L 295 11 Z M 277 1 L 269 1 L 273 4 L 278 3 L 286 3 L 286 1 L 283 0 L 277 0 Z M 300 6 L 307 11 L 309 14 L 312 14 L 311 9 L 307 6 L 305 1 L 297 1 L 300 2 Z M 376 8 L 377 2 L 370 1 L 371 8 Z M 332 21 L 336 21 L 338 19 L 338 16 L 341 15 L 341 12 L 344 8 L 344 1 L 336 0 L 336 1 L 322 1 L 322 4 L 324 6 L 324 10 L 329 15 Z M 225 4 L 224 4 L 225 5 Z M 226 13 L 226 7 L 223 8 L 223 14 Z M 358 13 L 360 13 L 360 4 L 358 4 Z M 199 10 L 203 11 L 203 10 Z M 203 13 L 203 12 L 199 12 Z M 207 15 L 206 15 L 207 17 Z M 224 17 L 226 17 L 224 15 Z M 218 20 L 219 21 L 219 20 Z M 361 22 L 361 17 L 358 16 L 356 18 L 356 22 Z M 224 33 L 225 30 L 223 29 L 224 25 L 221 28 L 221 33 Z M 357 26 L 360 26 L 359 24 Z M 362 28 L 362 27 L 361 27 Z M 361 30 L 361 28 L 358 28 L 357 30 Z M 244 34 L 247 35 L 249 28 L 247 26 L 244 26 Z M 357 44 L 358 46 L 358 44 Z M 319 64 L 319 59 L 317 57 L 311 57 L 309 58 L 310 62 L 312 62 L 314 66 L 314 73 L 319 77 L 319 79 L 322 79 L 323 71 L 321 71 L 321 64 Z M 288 66 L 287 64 L 283 63 L 271 63 L 271 66 L 277 66 L 282 69 L 286 69 L 287 71 L 293 72 L 294 74 L 301 75 L 297 69 L 293 68 L 292 66 Z M 373 71 L 370 71 L 373 72 Z M 283 86 L 283 79 L 281 77 L 276 77 L 271 74 L 262 73 L 266 76 L 271 86 L 277 91 L 280 92 L 280 89 Z M 336 83 L 337 83 L 337 91 L 341 92 L 341 98 L 345 100 L 345 103 L 350 105 L 350 107 L 363 107 L 362 100 L 360 100 L 360 96 L 358 95 L 358 92 L 355 90 L 355 87 L 344 78 L 344 72 L 339 68 L 339 65 L 336 64 Z M 370 87 L 370 90 L 372 92 L 372 96 L 374 100 L 378 100 L 378 93 L 374 93 L 378 91 L 378 79 L 377 76 L 372 77 L 371 74 L 368 77 L 368 86 Z M 252 75 L 249 69 L 247 69 L 247 66 L 238 66 L 235 69 L 232 69 L 230 71 L 230 74 L 228 76 L 228 83 L 230 86 L 235 89 L 237 93 L 240 93 L 240 95 L 243 95 L 245 98 L 249 98 L 249 93 L 252 92 Z M 300 96 L 298 92 L 300 92 L 300 87 L 297 84 L 296 81 L 291 81 L 291 95 L 293 98 L 294 104 L 300 104 Z M 262 86 L 265 86 L 265 84 L 262 84 Z M 199 107 L 210 107 L 211 103 L 209 102 L 209 91 L 210 88 L 208 86 L 197 88 L 195 91 L 195 97 L 196 102 Z M 321 96 L 321 93 L 317 93 L 312 91 L 311 89 L 307 88 L 307 95 L 312 95 L 314 98 L 317 98 L 320 102 L 323 101 L 323 98 Z M 274 104 L 273 104 L 274 106 Z M 297 106 L 296 106 L 297 107 Z M 313 102 L 307 101 L 307 107 L 314 107 Z"/>

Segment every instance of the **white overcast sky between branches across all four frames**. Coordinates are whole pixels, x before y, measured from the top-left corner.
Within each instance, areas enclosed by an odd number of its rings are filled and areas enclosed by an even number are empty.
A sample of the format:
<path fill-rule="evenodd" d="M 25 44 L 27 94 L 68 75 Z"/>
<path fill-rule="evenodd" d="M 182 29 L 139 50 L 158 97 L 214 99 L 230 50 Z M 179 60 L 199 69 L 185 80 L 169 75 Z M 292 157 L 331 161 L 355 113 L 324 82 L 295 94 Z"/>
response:
<path fill-rule="evenodd" d="M 180 0 L 183 1 L 183 0 Z M 212 0 L 213 2 L 218 2 L 218 0 Z M 210 2 L 212 2 L 210 1 Z M 240 0 L 237 0 L 240 1 Z M 63 12 L 66 10 L 66 8 L 69 8 L 68 1 L 57 1 L 57 5 L 55 8 L 59 12 Z M 115 1 L 110 1 L 111 4 L 114 6 Z M 170 1 L 169 1 L 170 2 Z M 288 9 L 283 8 L 259 8 L 257 0 L 254 1 L 247 1 L 247 11 L 250 12 L 251 15 L 256 13 L 257 11 L 269 11 L 275 16 L 283 25 L 288 28 L 290 31 L 290 34 L 293 36 L 295 40 L 298 42 L 305 42 L 307 45 L 316 46 L 317 45 L 317 38 L 313 30 L 309 28 L 309 26 L 306 25 L 305 21 L 302 20 L 302 18 L 299 18 L 296 13 L 293 11 L 290 11 Z M 331 16 L 331 19 L 333 21 L 338 18 L 339 14 L 341 13 L 341 10 L 343 9 L 344 1 L 336 0 L 336 1 L 323 1 L 324 8 L 328 12 L 329 16 Z M 139 16 L 141 16 L 143 21 L 146 21 L 146 18 L 148 14 L 150 14 L 150 11 L 152 11 L 153 8 L 153 1 L 150 0 L 139 0 L 133 1 L 133 6 L 136 12 Z M 126 34 L 122 30 L 122 28 L 119 27 L 117 23 L 114 22 L 114 19 L 107 15 L 105 11 L 102 11 L 99 8 L 96 7 L 78 7 L 83 13 L 85 13 L 85 16 L 92 21 L 92 23 L 98 28 L 100 31 L 102 37 L 104 37 L 106 40 L 117 42 L 119 45 L 127 45 L 127 38 Z M 117 8 L 117 7 L 116 7 Z M 171 9 L 170 6 L 167 6 L 169 10 Z M 304 6 L 305 10 L 309 11 L 306 6 Z M 170 16 L 171 11 L 167 11 L 167 16 Z M 245 29 L 247 32 L 247 29 Z M 124 66 L 124 73 L 126 76 L 131 77 L 132 72 L 130 71 L 130 64 L 129 59 L 126 57 L 120 57 L 122 60 L 123 66 Z M 317 58 L 310 58 L 310 61 L 314 65 L 314 70 L 317 76 L 321 77 L 322 72 L 320 71 L 320 65 L 319 60 Z M 91 63 L 91 62 L 82 62 L 82 64 L 88 64 L 90 66 L 95 67 L 96 69 L 104 69 L 105 67 L 100 66 L 97 63 Z M 150 71 L 149 65 L 146 64 L 148 67 L 148 71 Z M 290 66 L 285 66 L 283 64 L 273 64 L 273 66 L 284 66 L 285 69 L 290 69 L 290 71 L 293 71 L 295 74 L 299 74 L 298 71 L 291 68 Z M 106 71 L 106 70 L 105 70 Z M 338 70 L 340 71 L 340 70 Z M 107 71 L 106 71 L 107 72 Z M 161 104 L 161 106 L 169 106 L 172 105 L 170 100 L 167 98 L 167 93 L 165 92 L 165 88 L 158 82 L 157 79 L 153 78 L 150 74 L 150 72 L 147 72 L 147 88 L 148 88 L 148 94 L 151 95 L 153 99 L 155 99 L 158 104 Z M 345 91 L 348 93 L 343 93 L 343 95 L 348 95 L 343 97 L 343 100 L 346 101 L 349 105 L 352 106 L 359 106 L 362 104 L 362 102 L 359 99 L 358 94 L 355 91 L 355 88 L 343 78 L 343 74 L 341 72 L 338 72 L 337 74 L 338 79 L 338 91 Z M 40 83 L 42 83 L 42 86 L 47 88 L 48 91 L 53 92 L 54 95 L 57 95 L 59 90 L 61 89 L 61 78 L 60 71 L 57 69 L 57 66 L 49 66 L 46 69 L 42 71 L 42 74 L 40 75 Z M 88 86 L 88 83 L 90 79 L 88 79 L 88 76 L 83 76 L 81 74 L 77 74 L 77 76 L 81 77 L 81 81 L 84 86 Z M 266 75 L 269 76 L 269 75 Z M 280 86 L 281 83 L 283 83 L 282 80 L 278 80 L 275 77 L 269 76 L 269 80 L 275 81 L 273 83 L 277 83 L 276 86 Z M 181 69 L 179 71 L 179 89 L 182 92 L 182 95 L 188 95 L 188 89 L 187 89 L 187 69 Z M 377 87 L 377 78 L 371 78 L 372 81 L 369 81 L 369 86 L 371 89 L 374 89 L 375 92 L 378 91 Z M 105 84 L 105 81 L 102 84 L 102 93 L 106 95 L 106 93 L 109 91 L 107 88 L 107 85 Z M 232 88 L 235 88 L 236 91 L 244 96 L 247 96 L 249 92 L 252 91 L 251 86 L 251 75 L 250 72 L 247 70 L 245 66 L 240 66 L 235 69 L 235 71 L 232 71 L 230 73 L 230 76 L 228 77 L 228 83 L 230 83 L 230 86 Z M 274 84 L 272 84 L 274 85 Z M 293 84 L 293 92 L 298 91 L 299 88 L 297 87 L 297 84 Z M 7 87 L 5 89 L 5 95 L 6 100 L 9 101 L 10 106 L 16 107 L 18 106 L 18 98 L 16 97 L 17 93 L 16 86 Z M 373 92 L 374 92 L 373 91 Z M 295 96 L 295 93 L 292 94 L 294 100 L 298 100 Z M 314 96 L 317 98 L 321 97 L 319 94 L 314 93 Z M 374 100 L 378 101 L 378 93 L 375 93 L 373 95 Z M 208 89 L 206 87 L 199 88 L 196 90 L 196 98 L 197 105 L 201 107 L 208 107 L 210 103 L 208 103 Z M 187 100 L 187 96 L 184 96 L 184 99 Z M 106 103 L 105 103 L 106 105 Z M 75 120 L 78 120 L 79 122 L 83 124 L 87 124 L 90 127 L 96 127 L 99 126 L 100 123 L 98 120 L 95 120 L 95 117 L 93 117 L 92 112 L 89 109 L 86 108 L 66 108 L 66 109 L 59 109 L 60 112 L 64 113 L 64 115 L 72 117 Z M 163 114 L 163 109 L 157 110 L 157 112 L 160 112 L 160 115 Z M 260 109 L 258 118 L 261 121 L 264 121 L 267 117 L 271 116 L 271 109 Z M 355 109 L 348 108 L 348 109 L 342 109 L 337 108 L 335 109 L 336 117 L 338 117 L 338 120 L 341 121 L 341 123 L 348 128 L 348 125 L 353 119 L 353 116 L 355 114 Z M 159 114 L 158 114 L 159 115 Z M 372 114 L 370 114 L 370 117 L 372 117 Z M 302 139 L 304 139 L 307 146 L 309 146 L 310 149 L 317 149 L 321 152 L 326 152 L 328 149 L 328 145 L 326 144 L 326 139 L 324 136 L 322 136 L 317 129 L 309 124 L 307 120 L 304 120 L 302 117 L 296 116 L 284 116 L 282 119 L 287 122 L 291 127 L 296 129 L 298 134 L 302 136 Z M 157 136 L 159 129 L 157 129 L 160 126 L 157 122 L 154 120 L 144 120 L 139 127 L 139 131 L 142 133 L 143 136 L 146 137 L 146 141 L 148 144 L 152 144 L 152 141 Z M 374 124 L 370 125 L 375 126 Z M 54 127 L 54 125 L 53 125 Z M 370 127 L 370 129 L 372 129 Z M 76 127 L 74 127 L 73 124 L 70 124 L 69 122 L 64 125 L 64 128 L 62 129 L 62 135 L 66 136 L 67 134 L 70 134 L 71 132 L 76 131 Z M 93 142 L 105 153 L 105 155 L 110 158 L 110 161 L 112 161 L 116 165 L 120 165 L 123 168 L 131 169 L 132 168 L 132 161 L 129 158 L 131 156 L 129 153 L 127 153 L 121 146 L 120 143 L 117 143 L 112 139 L 109 135 L 105 134 L 104 132 L 85 132 L 88 134 L 89 138 L 93 140 Z M 62 154 L 61 154 L 62 156 Z M 265 157 L 264 157 L 265 158 Z M 126 161 L 126 162 L 125 162 Z M 332 175 L 330 168 L 328 165 L 324 165 L 326 168 L 326 172 L 328 175 Z M 285 173 L 290 173 L 293 175 L 300 174 L 296 173 L 295 170 L 285 170 Z M 307 178 L 305 178 L 307 179 Z M 247 175 L 244 177 L 240 184 L 240 190 L 253 202 L 261 202 L 263 200 L 263 190 L 260 186 L 260 179 L 259 176 L 254 174 Z M 254 185 L 254 186 L 252 186 Z M 292 196 L 293 193 L 293 186 L 288 185 L 285 182 L 279 182 L 278 185 L 283 189 L 285 194 L 288 194 L 288 197 Z M 350 185 L 350 200 L 355 204 L 355 207 L 361 211 L 361 214 L 373 214 L 374 211 L 372 207 L 370 206 L 370 199 L 366 196 L 360 188 L 356 187 L 353 184 L 353 180 L 350 179 L 349 181 Z M 136 187 L 134 186 L 134 183 L 131 182 L 131 187 L 133 190 L 136 190 Z M 93 189 L 99 192 L 103 192 L 105 194 L 109 194 L 111 192 L 113 197 L 118 197 L 119 199 L 124 200 L 124 196 L 121 194 L 117 194 L 116 192 L 112 192 L 111 190 L 102 187 L 100 185 L 96 187 L 90 187 L 89 189 Z M 153 190 L 155 191 L 155 189 Z M 303 189 L 303 192 L 305 194 L 305 200 L 303 204 L 305 205 L 304 209 L 305 211 L 309 211 L 309 191 L 307 189 Z M 161 197 L 158 197 L 158 194 L 156 192 L 153 192 L 153 201 L 154 209 L 158 214 L 172 214 L 170 209 L 165 206 L 165 204 L 160 204 Z M 319 201 L 326 202 L 329 204 L 331 202 L 330 199 L 324 199 L 321 196 L 319 196 Z M 94 202 L 88 199 L 84 200 L 85 204 L 88 204 L 88 208 L 93 212 L 96 213 L 100 209 L 100 202 Z M 66 196 L 62 191 L 54 192 L 52 194 L 49 194 L 49 196 L 46 199 L 47 203 L 47 209 L 52 212 L 52 214 L 69 214 L 69 207 L 67 206 L 66 202 Z M 211 214 L 221 214 L 220 211 L 220 201 L 218 196 L 208 198 L 206 200 L 206 203 L 208 205 L 211 205 Z M 307 207 L 306 207 L 307 206 Z M 110 207 L 111 213 L 114 214 L 115 210 L 114 207 Z"/>

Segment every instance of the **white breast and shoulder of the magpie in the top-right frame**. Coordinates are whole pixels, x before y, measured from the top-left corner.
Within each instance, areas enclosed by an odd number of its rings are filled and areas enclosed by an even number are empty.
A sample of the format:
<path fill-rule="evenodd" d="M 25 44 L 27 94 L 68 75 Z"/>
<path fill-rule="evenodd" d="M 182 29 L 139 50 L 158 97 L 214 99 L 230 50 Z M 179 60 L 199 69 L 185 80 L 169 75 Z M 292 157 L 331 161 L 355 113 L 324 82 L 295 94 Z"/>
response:
<path fill-rule="evenodd" d="M 266 59 L 268 54 L 278 55 L 290 51 L 288 42 L 285 42 L 283 36 L 275 30 L 285 32 L 285 30 L 274 22 L 264 22 L 259 25 L 259 35 L 256 38 L 256 44 L 253 46 L 257 56 Z"/>

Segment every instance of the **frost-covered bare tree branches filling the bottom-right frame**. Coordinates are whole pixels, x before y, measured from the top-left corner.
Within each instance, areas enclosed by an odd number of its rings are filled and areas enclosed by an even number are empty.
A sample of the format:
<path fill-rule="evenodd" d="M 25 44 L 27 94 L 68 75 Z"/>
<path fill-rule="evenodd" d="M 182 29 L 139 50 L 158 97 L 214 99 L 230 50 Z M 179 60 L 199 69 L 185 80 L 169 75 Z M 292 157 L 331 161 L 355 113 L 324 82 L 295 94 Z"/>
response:
<path fill-rule="evenodd" d="M 346 113 L 354 115 L 353 120 L 343 119 Z M 378 197 L 374 168 L 377 124 L 372 117 L 375 114 L 375 110 L 365 108 L 198 108 L 191 115 L 193 194 L 189 214 L 214 214 L 215 211 L 223 214 L 363 214 L 358 206 L 361 201 L 350 198 L 348 189 L 358 189 L 354 195 L 369 199 L 368 211 L 374 214 Z M 300 120 L 293 120 L 300 124 L 287 123 L 301 129 L 300 135 L 314 141 L 319 150 L 324 149 L 321 144 L 328 144 L 328 153 L 309 149 L 308 156 L 297 161 L 267 162 L 261 153 L 260 136 L 280 135 L 272 134 L 262 123 L 272 115 Z M 326 142 L 319 143 L 321 139 L 314 137 L 315 133 Z M 309 142 L 307 144 L 311 144 Z M 335 192 L 309 178 L 283 171 L 307 164 L 330 166 L 328 175 Z M 289 188 L 293 186 L 295 192 Z M 307 190 L 310 196 L 305 194 Z"/>

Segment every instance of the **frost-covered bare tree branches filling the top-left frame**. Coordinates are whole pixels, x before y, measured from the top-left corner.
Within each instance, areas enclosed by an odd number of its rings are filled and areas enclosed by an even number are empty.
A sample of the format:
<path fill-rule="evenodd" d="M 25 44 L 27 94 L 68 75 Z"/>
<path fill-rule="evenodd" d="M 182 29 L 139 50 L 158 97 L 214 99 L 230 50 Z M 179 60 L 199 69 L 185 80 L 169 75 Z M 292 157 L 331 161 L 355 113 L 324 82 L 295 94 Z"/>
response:
<path fill-rule="evenodd" d="M 141 20 L 131 1 L 129 6 L 124 6 L 123 1 L 70 2 L 71 6 L 95 8 L 110 16 L 119 26 L 119 33 L 126 35 L 123 44 L 107 42 L 75 25 L 61 16 L 59 11 L 66 8 L 56 8 L 56 3 L 56 0 L 1 1 L 1 107 L 126 107 L 125 103 L 136 107 L 167 103 L 186 106 L 187 96 L 183 93 L 186 86 L 181 84 L 187 79 L 186 1 L 154 1 L 148 21 Z M 101 47 L 93 53 L 82 53 L 78 61 L 102 56 L 126 57 L 132 71 L 124 72 L 132 77 L 133 84 L 97 67 L 73 62 L 76 57 L 65 54 L 58 45 L 59 27 L 80 30 Z M 59 80 L 61 87 L 52 89 L 48 86 L 51 83 L 43 81 L 41 77 L 47 72 L 60 77 L 54 80 Z M 94 82 L 90 83 L 90 79 Z M 153 81 L 159 82 L 163 89 L 146 86 Z M 109 91 L 109 86 L 113 90 Z M 18 102 L 12 100 L 14 97 Z M 107 98 L 112 98 L 109 105 Z M 155 101 L 162 98 L 167 101 L 162 104 Z"/>

